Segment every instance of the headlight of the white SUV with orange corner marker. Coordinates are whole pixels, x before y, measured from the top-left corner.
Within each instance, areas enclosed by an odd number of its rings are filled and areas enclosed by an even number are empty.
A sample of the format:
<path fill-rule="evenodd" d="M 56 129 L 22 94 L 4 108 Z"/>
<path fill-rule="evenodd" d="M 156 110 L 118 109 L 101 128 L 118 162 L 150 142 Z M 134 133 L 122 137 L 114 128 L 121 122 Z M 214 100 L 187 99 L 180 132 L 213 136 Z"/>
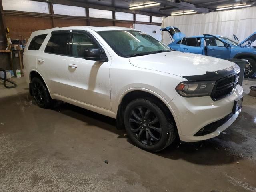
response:
<path fill-rule="evenodd" d="M 216 81 L 184 81 L 176 86 L 176 91 L 183 97 L 210 96 Z"/>

